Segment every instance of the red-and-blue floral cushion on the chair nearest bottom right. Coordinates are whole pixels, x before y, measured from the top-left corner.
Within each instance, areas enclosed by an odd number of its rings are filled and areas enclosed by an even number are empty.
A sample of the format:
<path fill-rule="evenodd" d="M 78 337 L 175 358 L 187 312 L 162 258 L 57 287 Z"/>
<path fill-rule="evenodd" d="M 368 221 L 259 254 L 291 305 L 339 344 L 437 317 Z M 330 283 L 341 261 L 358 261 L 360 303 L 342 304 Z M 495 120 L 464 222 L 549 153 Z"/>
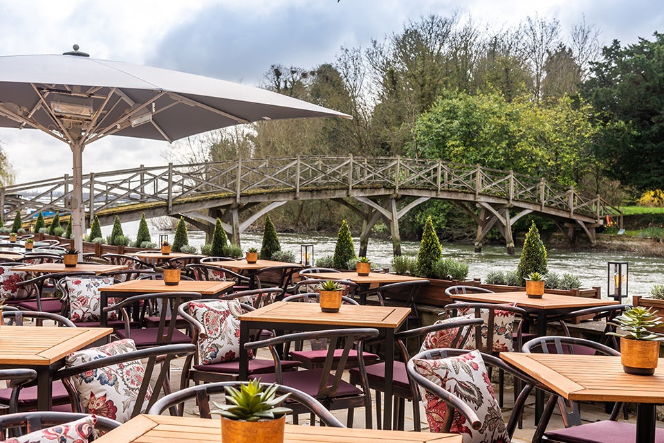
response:
<path fill-rule="evenodd" d="M 415 359 L 415 370 L 426 379 L 452 392 L 468 404 L 479 417 L 481 428 L 475 431 L 466 418 L 454 412 L 450 432 L 463 436 L 463 443 L 508 443 L 510 437 L 500 413 L 479 351 L 437 360 Z M 420 388 L 431 432 L 443 432 L 443 419 L 448 405 L 443 399 Z"/>

